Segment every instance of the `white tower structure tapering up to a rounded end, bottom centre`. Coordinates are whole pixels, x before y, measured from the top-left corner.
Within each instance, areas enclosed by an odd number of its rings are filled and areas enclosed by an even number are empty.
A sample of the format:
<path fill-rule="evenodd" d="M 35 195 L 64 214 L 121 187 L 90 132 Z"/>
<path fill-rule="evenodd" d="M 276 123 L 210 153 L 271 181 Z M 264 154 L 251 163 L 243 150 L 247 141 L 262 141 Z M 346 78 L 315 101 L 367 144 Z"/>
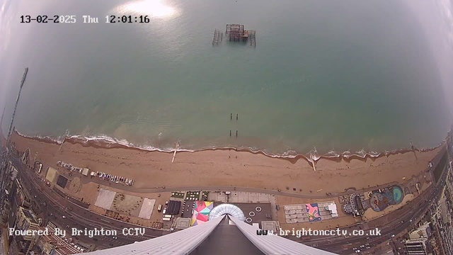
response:
<path fill-rule="evenodd" d="M 223 211 L 226 214 L 221 214 Z M 120 254 L 332 254 L 299 244 L 275 234 L 258 235 L 256 227 L 229 215 L 241 215 L 233 206 L 223 205 L 202 224 L 143 242 L 93 251 L 94 255 Z"/>

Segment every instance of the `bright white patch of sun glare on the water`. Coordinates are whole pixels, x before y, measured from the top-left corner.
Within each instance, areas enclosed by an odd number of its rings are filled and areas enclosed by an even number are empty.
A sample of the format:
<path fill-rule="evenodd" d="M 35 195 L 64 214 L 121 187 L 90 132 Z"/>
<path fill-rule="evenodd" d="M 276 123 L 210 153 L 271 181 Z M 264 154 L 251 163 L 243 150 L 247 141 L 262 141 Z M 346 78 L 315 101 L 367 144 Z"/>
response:
<path fill-rule="evenodd" d="M 175 16 L 178 11 L 171 6 L 167 6 L 160 0 L 132 1 L 117 7 L 121 14 L 140 13 L 150 18 L 167 18 Z"/>

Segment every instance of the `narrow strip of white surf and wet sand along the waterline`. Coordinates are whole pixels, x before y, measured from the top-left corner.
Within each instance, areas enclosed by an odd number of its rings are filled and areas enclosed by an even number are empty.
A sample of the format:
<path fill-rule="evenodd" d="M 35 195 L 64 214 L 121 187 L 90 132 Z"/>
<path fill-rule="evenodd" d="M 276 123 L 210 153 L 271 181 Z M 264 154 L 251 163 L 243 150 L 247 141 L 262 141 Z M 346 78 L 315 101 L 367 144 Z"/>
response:
<path fill-rule="evenodd" d="M 95 138 L 87 138 L 87 137 L 82 137 L 80 135 L 72 135 L 71 137 L 64 137 L 63 140 L 59 141 L 53 137 L 40 137 L 40 136 L 28 136 L 28 135 L 23 135 L 21 132 L 18 132 L 16 129 L 13 130 L 13 133 L 16 135 L 19 135 L 24 138 L 28 138 L 31 140 L 36 140 L 38 142 L 46 142 L 49 144 L 55 144 L 55 145 L 62 145 L 62 143 L 69 142 L 71 145 L 81 145 L 83 147 L 93 147 L 96 149 L 134 149 L 138 151 L 143 151 L 143 152 L 163 152 L 163 153 L 168 153 L 168 154 L 173 154 L 175 152 L 175 149 L 159 149 L 155 147 L 150 147 L 150 148 L 144 148 L 144 147 L 136 147 L 134 145 L 125 145 L 121 143 L 118 140 L 114 140 L 111 137 L 95 137 Z M 288 162 L 291 162 L 292 164 L 296 164 L 299 159 L 304 160 L 305 162 L 309 163 L 311 166 L 314 162 L 318 162 L 320 159 L 328 159 L 329 161 L 333 162 L 350 162 L 352 159 L 357 159 L 362 162 L 366 162 L 367 159 L 371 159 L 374 161 L 375 159 L 379 159 L 381 157 L 389 157 L 392 155 L 397 155 L 397 154 L 405 154 L 408 152 L 430 152 L 435 149 L 438 149 L 439 147 L 442 146 L 442 144 L 445 142 L 445 139 L 440 142 L 440 145 L 437 145 L 437 147 L 431 147 L 431 148 L 425 148 L 425 149 L 418 149 L 414 148 L 412 149 L 407 149 L 407 148 L 401 148 L 401 149 L 394 149 L 391 151 L 385 150 L 384 152 L 365 152 L 365 150 L 361 150 L 359 152 L 351 153 L 350 151 L 345 151 L 343 153 L 338 153 L 338 152 L 328 152 L 327 154 L 323 155 L 318 155 L 318 154 L 302 154 L 302 153 L 297 153 L 295 155 L 283 155 L 283 154 L 268 154 L 264 152 L 262 149 L 257 149 L 253 150 L 250 147 L 247 148 L 236 148 L 236 147 L 207 147 L 207 148 L 202 148 L 202 149 L 178 149 L 178 153 L 196 153 L 196 152 L 207 152 L 207 151 L 235 151 L 235 152 L 248 152 L 250 154 L 260 154 L 265 157 L 270 157 L 273 159 L 283 159 Z"/>

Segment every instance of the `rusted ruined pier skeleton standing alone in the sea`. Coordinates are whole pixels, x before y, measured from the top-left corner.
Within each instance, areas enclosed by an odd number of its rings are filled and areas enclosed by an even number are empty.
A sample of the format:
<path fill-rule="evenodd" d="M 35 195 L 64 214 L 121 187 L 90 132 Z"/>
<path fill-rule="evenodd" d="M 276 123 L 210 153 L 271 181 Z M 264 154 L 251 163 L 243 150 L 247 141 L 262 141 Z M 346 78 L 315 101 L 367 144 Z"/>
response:
<path fill-rule="evenodd" d="M 248 45 L 256 47 L 256 30 L 245 30 L 241 24 L 227 24 L 225 36 L 230 41 L 248 42 Z M 214 30 L 214 37 L 212 38 L 212 45 L 222 42 L 223 33 L 219 29 Z"/>

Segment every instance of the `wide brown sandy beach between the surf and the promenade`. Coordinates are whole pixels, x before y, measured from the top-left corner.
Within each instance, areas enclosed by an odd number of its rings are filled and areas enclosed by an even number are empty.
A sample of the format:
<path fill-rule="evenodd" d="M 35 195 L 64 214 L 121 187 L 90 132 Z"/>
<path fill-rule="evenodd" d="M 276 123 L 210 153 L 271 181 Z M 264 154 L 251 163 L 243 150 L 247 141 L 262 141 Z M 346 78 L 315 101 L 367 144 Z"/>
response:
<path fill-rule="evenodd" d="M 322 194 L 347 188 L 368 188 L 394 181 L 403 182 L 428 169 L 428 162 L 440 147 L 427 152 L 398 152 L 371 159 L 319 159 L 316 171 L 304 158 L 279 159 L 228 150 L 148 152 L 127 147 L 105 148 L 69 141 L 62 145 L 13 134 L 19 151 L 31 149 L 33 161 L 57 168 L 57 161 L 86 166 L 92 171 L 125 176 L 135 180 L 134 188 L 156 186 L 241 186 L 294 193 Z M 293 189 L 296 191 L 293 191 Z M 301 191 L 302 189 L 302 191 Z M 321 191 L 319 191 L 321 190 Z M 317 192 L 319 191 L 319 192 Z"/>

